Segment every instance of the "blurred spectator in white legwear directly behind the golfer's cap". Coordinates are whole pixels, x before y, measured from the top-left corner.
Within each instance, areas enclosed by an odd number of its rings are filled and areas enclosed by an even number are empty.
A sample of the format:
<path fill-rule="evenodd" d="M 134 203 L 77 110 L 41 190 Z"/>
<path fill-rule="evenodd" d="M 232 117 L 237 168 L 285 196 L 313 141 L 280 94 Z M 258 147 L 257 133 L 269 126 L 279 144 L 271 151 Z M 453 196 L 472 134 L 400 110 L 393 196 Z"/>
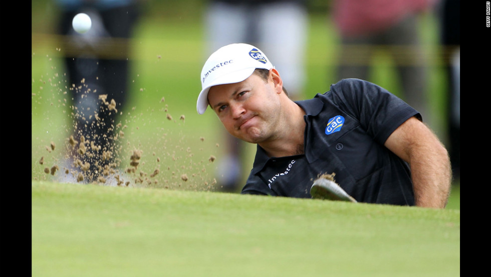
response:
<path fill-rule="evenodd" d="M 281 72 L 290 98 L 302 98 L 305 81 L 308 14 L 305 0 L 210 0 L 205 10 L 208 56 L 230 43 L 248 43 L 269 54 Z M 223 130 L 227 156 L 218 165 L 223 191 L 241 188 L 244 143 Z M 248 174 L 245 174 L 247 176 Z"/>

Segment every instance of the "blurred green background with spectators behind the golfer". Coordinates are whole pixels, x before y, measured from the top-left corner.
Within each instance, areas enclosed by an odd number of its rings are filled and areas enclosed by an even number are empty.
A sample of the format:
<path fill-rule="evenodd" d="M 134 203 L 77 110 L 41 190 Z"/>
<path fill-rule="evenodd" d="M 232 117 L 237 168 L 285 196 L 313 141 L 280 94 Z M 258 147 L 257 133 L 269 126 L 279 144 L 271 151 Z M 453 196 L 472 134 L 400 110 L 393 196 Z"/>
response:
<path fill-rule="evenodd" d="M 32 1 L 33 180 L 54 180 L 62 174 L 45 169 L 61 168 L 70 151 L 74 105 L 81 103 L 71 91 L 79 85 L 94 91 L 98 85 L 100 93 L 115 90 L 115 97 L 120 97 L 113 114 L 122 132 L 117 158 L 124 169 L 134 151 L 141 151 L 138 174 L 143 185 L 238 192 L 252 168 L 256 146 L 230 141 L 209 109 L 203 115 L 196 112 L 201 67 L 217 45 L 230 39 L 255 44 L 280 74 L 283 68 L 285 86 L 289 89 L 290 84 L 296 99 L 328 91 L 330 84 L 345 78 L 342 72 L 365 74 L 360 76 L 400 96 L 423 113 L 447 146 L 459 183 L 458 1 L 391 1 L 397 5 L 375 1 L 366 7 L 334 0 L 250 1 L 252 5 L 205 0 L 102 2 L 84 10 L 93 13 L 93 27 L 90 34 L 79 35 L 70 33 L 71 18 L 79 11 L 74 3 Z M 123 4 L 131 5 L 131 12 Z M 359 22 L 357 30 L 356 23 L 346 19 L 363 18 L 363 10 L 375 17 Z M 400 10 L 405 11 L 402 19 L 396 17 Z M 253 35 L 232 38 L 246 33 L 235 23 L 248 19 L 259 23 L 243 23 Z M 411 35 L 404 35 L 406 31 Z M 391 41 L 395 37 L 400 40 Z M 278 51 L 287 44 L 293 50 Z M 83 61 L 88 59 L 96 60 L 96 67 L 113 69 L 90 79 L 90 72 L 98 69 L 87 71 L 90 66 Z M 356 68 L 347 71 L 350 67 Z M 80 72 L 74 73 L 77 69 Z M 367 71 L 356 71 L 360 69 Z M 290 70 L 294 72 L 287 73 Z M 81 82 L 84 74 L 87 79 Z M 111 79 L 113 75 L 117 78 Z M 102 79 L 111 79 L 111 84 Z M 227 174 L 236 178 L 230 181 Z"/>

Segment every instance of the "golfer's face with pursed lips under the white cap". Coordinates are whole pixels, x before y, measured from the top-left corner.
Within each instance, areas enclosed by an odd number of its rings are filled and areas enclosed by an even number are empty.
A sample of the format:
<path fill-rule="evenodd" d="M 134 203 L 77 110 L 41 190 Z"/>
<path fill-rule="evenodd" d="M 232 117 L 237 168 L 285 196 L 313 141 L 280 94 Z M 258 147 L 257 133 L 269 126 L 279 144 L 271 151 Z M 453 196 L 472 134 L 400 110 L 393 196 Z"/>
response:
<path fill-rule="evenodd" d="M 280 94 L 270 72 L 266 82 L 256 74 L 246 80 L 217 85 L 208 92 L 208 103 L 225 129 L 249 143 L 273 138 L 281 114 Z"/>

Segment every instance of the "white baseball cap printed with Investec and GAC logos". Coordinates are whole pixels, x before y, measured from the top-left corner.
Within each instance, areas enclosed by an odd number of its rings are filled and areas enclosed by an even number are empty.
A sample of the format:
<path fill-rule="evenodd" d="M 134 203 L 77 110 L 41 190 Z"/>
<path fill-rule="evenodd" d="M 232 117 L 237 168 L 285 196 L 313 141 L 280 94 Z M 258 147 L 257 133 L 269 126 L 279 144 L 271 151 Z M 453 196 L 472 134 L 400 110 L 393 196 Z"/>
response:
<path fill-rule="evenodd" d="M 275 68 L 266 55 L 250 44 L 233 43 L 216 50 L 201 70 L 201 92 L 196 109 L 203 114 L 208 107 L 208 90 L 212 86 L 246 80 L 256 68 Z"/>

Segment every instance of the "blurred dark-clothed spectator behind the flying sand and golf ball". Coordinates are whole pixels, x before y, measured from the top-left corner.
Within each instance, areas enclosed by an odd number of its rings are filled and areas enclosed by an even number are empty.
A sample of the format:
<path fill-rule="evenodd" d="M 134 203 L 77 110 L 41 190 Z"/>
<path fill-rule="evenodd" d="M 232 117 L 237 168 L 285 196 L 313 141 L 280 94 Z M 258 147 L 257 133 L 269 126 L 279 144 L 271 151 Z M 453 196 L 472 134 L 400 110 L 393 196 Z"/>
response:
<path fill-rule="evenodd" d="M 74 116 L 73 137 L 64 166 L 85 172 L 84 183 L 96 181 L 106 169 L 118 166 L 114 139 L 115 119 L 128 96 L 129 55 L 132 31 L 140 16 L 140 1 L 130 0 L 56 0 L 60 11 L 58 33 L 67 76 L 67 93 Z M 91 29 L 79 34 L 72 27 L 78 13 L 92 21 Z M 100 95 L 107 95 L 103 104 Z M 82 136 L 84 138 L 82 138 Z M 86 152 L 79 148 L 85 139 Z M 81 146 L 81 145 L 80 145 Z M 81 152 L 79 152 L 81 151 Z M 81 164 L 74 164 L 80 161 Z M 82 170 L 81 165 L 90 164 Z M 65 175 L 64 173 L 62 173 Z M 75 182 L 66 174 L 60 181 Z"/>

